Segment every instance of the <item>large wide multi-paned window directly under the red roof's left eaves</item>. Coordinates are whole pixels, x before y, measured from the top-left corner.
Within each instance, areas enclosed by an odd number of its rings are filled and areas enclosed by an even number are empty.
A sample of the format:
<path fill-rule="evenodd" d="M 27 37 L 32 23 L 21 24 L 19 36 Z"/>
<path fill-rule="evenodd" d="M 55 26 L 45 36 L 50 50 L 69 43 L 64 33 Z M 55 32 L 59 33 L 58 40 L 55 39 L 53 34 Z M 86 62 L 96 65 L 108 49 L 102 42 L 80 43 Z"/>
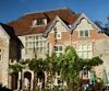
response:
<path fill-rule="evenodd" d="M 25 37 L 25 54 L 46 53 L 46 38 L 43 35 L 32 35 Z"/>

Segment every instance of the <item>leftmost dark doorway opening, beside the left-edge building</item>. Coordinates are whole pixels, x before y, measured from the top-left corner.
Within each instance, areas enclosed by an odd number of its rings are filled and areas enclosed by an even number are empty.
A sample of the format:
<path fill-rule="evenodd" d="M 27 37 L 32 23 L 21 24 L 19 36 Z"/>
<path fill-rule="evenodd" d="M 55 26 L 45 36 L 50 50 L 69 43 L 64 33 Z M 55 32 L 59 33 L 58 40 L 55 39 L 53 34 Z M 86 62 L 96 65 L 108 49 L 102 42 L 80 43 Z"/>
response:
<path fill-rule="evenodd" d="M 17 80 L 19 80 L 19 72 L 12 72 L 11 73 L 11 89 L 12 90 L 17 89 Z"/>

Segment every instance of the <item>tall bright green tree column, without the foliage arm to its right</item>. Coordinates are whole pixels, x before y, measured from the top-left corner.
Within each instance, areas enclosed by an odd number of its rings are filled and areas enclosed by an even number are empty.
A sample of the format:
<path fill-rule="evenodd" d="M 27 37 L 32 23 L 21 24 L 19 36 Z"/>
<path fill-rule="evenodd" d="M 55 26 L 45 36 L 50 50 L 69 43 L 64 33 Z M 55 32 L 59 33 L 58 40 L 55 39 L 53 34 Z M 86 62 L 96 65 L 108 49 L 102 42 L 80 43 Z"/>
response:
<path fill-rule="evenodd" d="M 78 56 L 72 46 L 68 46 L 62 55 L 58 58 L 60 73 L 62 79 L 66 82 L 69 90 L 72 90 L 72 84 L 76 82 L 76 64 Z M 75 70 L 76 69 L 76 70 Z"/>

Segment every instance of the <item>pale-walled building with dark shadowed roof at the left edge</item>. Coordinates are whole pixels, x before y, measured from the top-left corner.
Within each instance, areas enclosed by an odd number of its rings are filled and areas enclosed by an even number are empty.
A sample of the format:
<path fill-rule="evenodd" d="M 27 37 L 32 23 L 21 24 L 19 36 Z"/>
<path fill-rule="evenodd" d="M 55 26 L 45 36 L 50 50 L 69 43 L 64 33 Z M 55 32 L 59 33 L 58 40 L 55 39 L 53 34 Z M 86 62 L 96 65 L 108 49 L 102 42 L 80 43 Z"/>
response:
<path fill-rule="evenodd" d="M 21 46 L 14 30 L 0 23 L 0 83 L 9 84 L 9 64 L 19 60 Z"/>

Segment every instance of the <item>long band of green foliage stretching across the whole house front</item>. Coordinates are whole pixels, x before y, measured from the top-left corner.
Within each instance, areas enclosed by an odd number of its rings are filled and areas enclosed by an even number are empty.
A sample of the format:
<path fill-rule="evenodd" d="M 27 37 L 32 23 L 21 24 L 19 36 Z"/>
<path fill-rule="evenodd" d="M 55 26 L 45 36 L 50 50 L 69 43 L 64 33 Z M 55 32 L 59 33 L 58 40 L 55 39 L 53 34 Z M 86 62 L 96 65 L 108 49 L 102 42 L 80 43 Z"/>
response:
<path fill-rule="evenodd" d="M 20 71 L 27 65 L 28 68 L 36 73 L 36 77 L 39 71 L 49 71 L 51 76 L 60 71 L 62 80 L 72 84 L 78 82 L 81 70 L 90 70 L 93 66 L 101 64 L 102 60 L 98 56 L 93 57 L 92 59 L 82 59 L 77 56 L 73 46 L 68 46 L 60 56 L 52 53 L 51 55 L 48 54 L 45 59 L 36 57 L 22 60 L 15 65 L 10 65 L 10 69 Z"/>

